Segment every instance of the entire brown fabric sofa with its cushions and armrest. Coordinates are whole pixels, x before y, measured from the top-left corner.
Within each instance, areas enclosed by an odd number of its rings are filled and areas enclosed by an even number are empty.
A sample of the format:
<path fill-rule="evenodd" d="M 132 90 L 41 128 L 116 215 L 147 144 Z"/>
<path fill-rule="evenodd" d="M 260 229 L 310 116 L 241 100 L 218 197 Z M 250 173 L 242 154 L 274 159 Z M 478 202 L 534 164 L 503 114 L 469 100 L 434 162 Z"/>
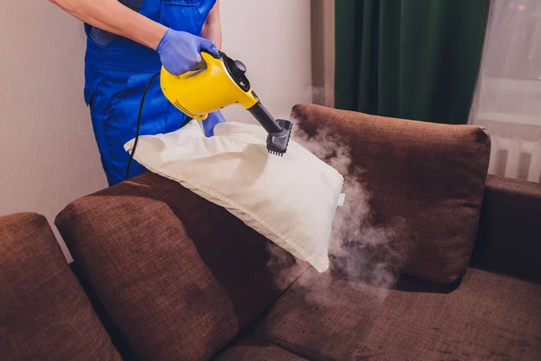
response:
<path fill-rule="evenodd" d="M 351 147 L 365 226 L 400 225 L 383 248 L 347 244 L 362 273 L 399 274 L 390 290 L 316 273 L 146 173 L 57 217 L 78 282 L 44 218 L 0 218 L 2 358 L 541 359 L 541 187 L 487 177 L 483 129 L 312 105 L 293 117 Z"/>

